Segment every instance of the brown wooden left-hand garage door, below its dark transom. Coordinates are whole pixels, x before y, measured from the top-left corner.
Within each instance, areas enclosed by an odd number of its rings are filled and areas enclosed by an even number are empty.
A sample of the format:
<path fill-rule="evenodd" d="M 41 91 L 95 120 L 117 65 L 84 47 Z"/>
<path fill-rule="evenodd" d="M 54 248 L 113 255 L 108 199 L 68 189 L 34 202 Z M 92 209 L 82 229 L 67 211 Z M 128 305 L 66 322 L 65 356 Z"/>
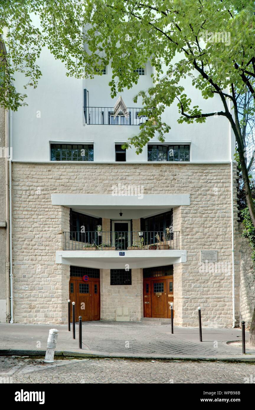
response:
<path fill-rule="evenodd" d="M 91 278 L 87 282 L 81 278 L 70 279 L 71 320 L 72 302 L 75 302 L 75 321 L 100 320 L 100 279 Z"/>

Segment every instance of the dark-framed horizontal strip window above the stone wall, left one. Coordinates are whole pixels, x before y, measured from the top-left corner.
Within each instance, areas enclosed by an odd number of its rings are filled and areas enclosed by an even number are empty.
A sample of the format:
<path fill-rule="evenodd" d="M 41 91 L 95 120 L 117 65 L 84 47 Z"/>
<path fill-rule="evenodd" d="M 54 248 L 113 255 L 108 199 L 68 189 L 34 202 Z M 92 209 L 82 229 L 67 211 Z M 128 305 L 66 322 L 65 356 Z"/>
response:
<path fill-rule="evenodd" d="M 51 161 L 93 161 L 93 145 L 50 144 Z"/>

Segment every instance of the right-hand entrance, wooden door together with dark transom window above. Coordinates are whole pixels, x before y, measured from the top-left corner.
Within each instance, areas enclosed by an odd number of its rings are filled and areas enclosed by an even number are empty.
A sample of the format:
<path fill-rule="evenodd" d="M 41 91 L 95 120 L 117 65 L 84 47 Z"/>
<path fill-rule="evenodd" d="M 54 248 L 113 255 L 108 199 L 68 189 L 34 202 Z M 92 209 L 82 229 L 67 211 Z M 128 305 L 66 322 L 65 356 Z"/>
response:
<path fill-rule="evenodd" d="M 143 269 L 143 317 L 171 318 L 171 302 L 173 265 Z"/>

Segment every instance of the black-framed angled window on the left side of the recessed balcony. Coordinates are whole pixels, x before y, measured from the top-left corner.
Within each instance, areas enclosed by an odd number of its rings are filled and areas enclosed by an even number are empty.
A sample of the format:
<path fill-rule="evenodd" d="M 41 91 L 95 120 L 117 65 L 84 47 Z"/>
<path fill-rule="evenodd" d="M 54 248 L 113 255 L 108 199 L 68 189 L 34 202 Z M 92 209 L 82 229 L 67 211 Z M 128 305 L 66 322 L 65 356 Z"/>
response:
<path fill-rule="evenodd" d="M 70 239 L 73 241 L 100 245 L 102 237 L 98 236 L 97 225 L 102 225 L 102 218 L 70 210 Z"/>

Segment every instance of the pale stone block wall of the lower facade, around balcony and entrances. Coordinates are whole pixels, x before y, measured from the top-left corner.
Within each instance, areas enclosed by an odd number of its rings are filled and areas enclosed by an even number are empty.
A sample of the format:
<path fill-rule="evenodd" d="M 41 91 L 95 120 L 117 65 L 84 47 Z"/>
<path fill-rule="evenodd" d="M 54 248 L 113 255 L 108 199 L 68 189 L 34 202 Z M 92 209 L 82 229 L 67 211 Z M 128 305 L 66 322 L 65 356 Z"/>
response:
<path fill-rule="evenodd" d="M 174 265 L 175 323 L 197 326 L 200 305 L 204 326 L 232 326 L 229 164 L 14 163 L 15 321 L 61 323 L 66 317 L 69 266 L 55 264 L 55 251 L 62 246 L 60 232 L 69 230 L 69 210 L 52 206 L 51 194 L 111 194 L 118 183 L 143 185 L 144 194 L 190 194 L 191 205 L 175 208 L 173 215 L 180 246 L 187 250 L 187 262 Z M 102 224 L 104 230 L 107 221 Z M 201 273 L 201 249 L 216 249 L 218 261 L 227 263 L 230 271 L 212 272 L 209 267 Z M 130 305 L 141 287 L 133 272 L 136 289 L 124 290 L 130 294 Z M 113 305 L 107 306 L 107 301 L 123 300 L 118 299 L 117 287 L 107 288 L 107 278 L 109 271 L 102 277 L 102 318 L 113 317 Z M 133 320 L 139 319 L 141 303 L 142 296 L 132 307 Z"/>

